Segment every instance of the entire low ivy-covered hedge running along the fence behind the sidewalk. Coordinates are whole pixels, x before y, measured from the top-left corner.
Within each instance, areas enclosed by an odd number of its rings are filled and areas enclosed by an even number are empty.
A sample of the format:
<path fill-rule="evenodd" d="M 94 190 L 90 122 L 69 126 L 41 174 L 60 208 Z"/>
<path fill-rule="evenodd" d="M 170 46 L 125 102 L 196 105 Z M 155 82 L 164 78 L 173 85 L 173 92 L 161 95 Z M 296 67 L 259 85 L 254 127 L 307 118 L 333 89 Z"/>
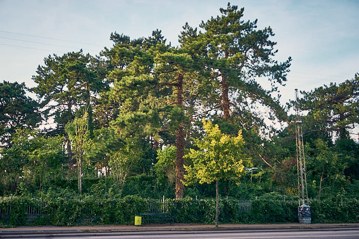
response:
<path fill-rule="evenodd" d="M 158 202 L 152 201 L 152 206 Z M 7 210 L 11 207 L 9 217 Z M 252 201 L 250 212 L 241 212 L 236 199 L 220 200 L 221 223 L 289 223 L 297 222 L 297 202 L 271 199 Z M 357 223 L 359 201 L 313 200 L 313 223 Z M 36 209 L 36 210 L 35 210 Z M 149 200 L 137 196 L 117 199 L 39 200 L 21 197 L 0 198 L 0 227 L 21 225 L 88 225 L 133 224 L 134 215 L 149 212 Z M 167 199 L 166 212 L 173 215 L 175 223 L 213 223 L 215 200 Z M 32 218 L 29 218 L 29 211 Z"/>

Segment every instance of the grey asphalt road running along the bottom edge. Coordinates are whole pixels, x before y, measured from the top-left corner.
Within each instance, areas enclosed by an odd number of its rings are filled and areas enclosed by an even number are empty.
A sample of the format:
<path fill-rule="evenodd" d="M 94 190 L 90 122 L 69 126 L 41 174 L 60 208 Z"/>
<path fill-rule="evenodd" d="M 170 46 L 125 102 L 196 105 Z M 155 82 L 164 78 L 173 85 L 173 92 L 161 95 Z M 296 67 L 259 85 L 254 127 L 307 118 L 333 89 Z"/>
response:
<path fill-rule="evenodd" d="M 21 234 L 0 236 L 0 238 L 359 238 L 359 228 L 331 228 L 316 230 L 207 230 L 207 231 L 142 231 L 142 232 L 106 232 L 106 233 L 66 233 L 66 234 Z"/>

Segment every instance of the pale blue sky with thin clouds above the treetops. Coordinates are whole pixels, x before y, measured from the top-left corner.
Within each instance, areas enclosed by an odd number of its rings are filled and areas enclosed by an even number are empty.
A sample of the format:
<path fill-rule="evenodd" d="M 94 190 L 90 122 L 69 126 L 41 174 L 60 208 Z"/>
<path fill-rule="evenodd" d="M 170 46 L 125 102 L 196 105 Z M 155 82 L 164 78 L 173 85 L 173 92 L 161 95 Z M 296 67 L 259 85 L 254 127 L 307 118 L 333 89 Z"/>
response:
<path fill-rule="evenodd" d="M 44 57 L 81 48 L 98 54 L 112 45 L 109 36 L 114 31 L 135 38 L 147 37 L 158 28 L 177 45 L 186 21 L 196 27 L 218 15 L 227 2 L 0 0 L 0 80 L 34 86 L 31 76 Z M 245 7 L 244 19 L 257 18 L 259 28 L 273 28 L 279 61 L 293 58 L 287 86 L 280 88 L 283 103 L 293 98 L 295 88 L 312 90 L 359 72 L 359 1 L 231 4 Z"/>

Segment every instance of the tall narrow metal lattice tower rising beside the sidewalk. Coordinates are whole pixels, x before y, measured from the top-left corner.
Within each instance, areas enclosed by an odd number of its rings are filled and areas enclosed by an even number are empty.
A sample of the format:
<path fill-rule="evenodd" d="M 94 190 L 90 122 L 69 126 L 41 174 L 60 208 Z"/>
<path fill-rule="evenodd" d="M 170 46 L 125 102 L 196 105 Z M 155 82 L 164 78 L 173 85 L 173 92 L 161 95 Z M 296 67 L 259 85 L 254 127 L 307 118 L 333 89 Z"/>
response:
<path fill-rule="evenodd" d="M 304 157 L 302 121 L 300 120 L 298 89 L 295 89 L 295 142 L 296 142 L 296 166 L 298 175 L 299 206 L 309 206 L 307 190 L 307 171 Z"/>

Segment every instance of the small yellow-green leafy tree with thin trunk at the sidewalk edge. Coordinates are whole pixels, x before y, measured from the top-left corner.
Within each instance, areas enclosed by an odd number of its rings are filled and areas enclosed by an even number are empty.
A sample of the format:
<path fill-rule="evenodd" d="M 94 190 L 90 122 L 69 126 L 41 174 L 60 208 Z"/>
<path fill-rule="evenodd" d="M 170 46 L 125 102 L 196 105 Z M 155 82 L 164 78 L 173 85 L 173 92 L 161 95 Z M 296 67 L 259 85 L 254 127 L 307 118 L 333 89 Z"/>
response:
<path fill-rule="evenodd" d="M 239 179 L 245 173 L 245 164 L 250 164 L 250 161 L 243 153 L 245 142 L 241 131 L 238 132 L 238 136 L 231 137 L 222 133 L 217 124 L 212 125 L 211 121 L 205 120 L 202 122 L 205 136 L 195 139 L 194 145 L 198 149 L 190 149 L 189 154 L 185 156 L 193 162 L 193 165 L 185 166 L 185 184 L 215 182 L 215 225 L 218 227 L 218 181 L 231 179 L 239 183 Z"/>

